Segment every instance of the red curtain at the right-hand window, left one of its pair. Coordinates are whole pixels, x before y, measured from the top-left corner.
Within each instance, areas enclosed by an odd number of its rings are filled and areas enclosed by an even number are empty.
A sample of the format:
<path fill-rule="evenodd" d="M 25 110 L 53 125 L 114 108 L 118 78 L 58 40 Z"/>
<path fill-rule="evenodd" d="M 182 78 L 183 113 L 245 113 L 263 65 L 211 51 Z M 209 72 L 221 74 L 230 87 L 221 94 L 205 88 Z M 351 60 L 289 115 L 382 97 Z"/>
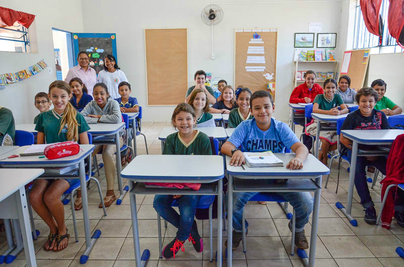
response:
<path fill-rule="evenodd" d="M 382 0 L 361 0 L 360 3 L 363 20 L 368 31 L 374 35 L 382 36 L 383 29 L 379 27 L 379 12 Z"/>

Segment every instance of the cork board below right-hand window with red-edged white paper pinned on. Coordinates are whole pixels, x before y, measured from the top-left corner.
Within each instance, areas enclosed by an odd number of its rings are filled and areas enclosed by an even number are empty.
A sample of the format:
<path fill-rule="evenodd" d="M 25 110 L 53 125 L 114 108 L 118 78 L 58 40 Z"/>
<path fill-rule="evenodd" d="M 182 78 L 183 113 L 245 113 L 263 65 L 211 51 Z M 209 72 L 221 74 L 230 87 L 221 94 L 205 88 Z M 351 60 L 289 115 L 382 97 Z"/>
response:
<path fill-rule="evenodd" d="M 358 91 L 365 82 L 368 70 L 369 49 L 347 50 L 342 56 L 340 75 L 350 78 L 350 88 Z"/>

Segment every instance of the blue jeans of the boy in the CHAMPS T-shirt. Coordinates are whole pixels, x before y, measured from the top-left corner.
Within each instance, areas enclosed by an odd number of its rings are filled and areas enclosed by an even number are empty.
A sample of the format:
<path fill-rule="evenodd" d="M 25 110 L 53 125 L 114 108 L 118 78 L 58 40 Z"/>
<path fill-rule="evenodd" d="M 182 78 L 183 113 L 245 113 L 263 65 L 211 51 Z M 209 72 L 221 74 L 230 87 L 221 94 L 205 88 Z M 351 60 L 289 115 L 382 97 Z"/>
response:
<path fill-rule="evenodd" d="M 242 215 L 244 205 L 248 200 L 259 192 L 237 192 L 233 193 L 233 229 L 236 232 L 242 232 Z M 309 192 L 282 192 L 283 196 L 290 205 L 293 206 L 296 216 L 296 232 L 304 230 L 309 222 L 309 216 L 313 211 L 313 197 Z M 226 205 L 228 194 L 226 194 Z M 245 221 L 245 229 L 248 228 L 248 222 Z"/>

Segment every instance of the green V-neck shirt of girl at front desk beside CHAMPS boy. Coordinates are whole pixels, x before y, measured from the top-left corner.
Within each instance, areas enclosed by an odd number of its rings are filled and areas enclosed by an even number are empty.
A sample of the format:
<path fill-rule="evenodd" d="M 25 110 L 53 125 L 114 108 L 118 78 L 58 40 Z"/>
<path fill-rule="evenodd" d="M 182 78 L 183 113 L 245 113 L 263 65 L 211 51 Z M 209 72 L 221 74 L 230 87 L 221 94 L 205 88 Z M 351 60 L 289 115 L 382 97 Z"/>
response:
<path fill-rule="evenodd" d="M 166 139 L 163 155 L 212 155 L 211 141 L 205 133 L 197 131 L 193 139 L 185 144 L 180 133 L 174 132 Z"/>

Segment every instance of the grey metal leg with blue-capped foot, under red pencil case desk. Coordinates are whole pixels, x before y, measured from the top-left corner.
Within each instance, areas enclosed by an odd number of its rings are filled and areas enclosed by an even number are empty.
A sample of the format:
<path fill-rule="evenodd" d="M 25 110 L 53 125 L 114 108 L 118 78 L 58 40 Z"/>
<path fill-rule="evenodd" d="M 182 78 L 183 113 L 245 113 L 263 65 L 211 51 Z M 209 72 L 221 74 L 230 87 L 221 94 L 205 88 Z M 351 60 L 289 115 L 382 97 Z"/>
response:
<path fill-rule="evenodd" d="M 119 154 L 119 153 L 117 153 Z M 97 241 L 97 238 L 101 235 L 100 230 L 95 230 L 92 236 L 90 237 L 90 220 L 88 216 L 88 199 L 87 199 L 87 185 L 85 182 L 85 168 L 84 168 L 84 160 L 79 163 L 79 174 L 80 174 L 80 186 L 81 186 L 81 199 L 83 202 L 83 221 L 84 221 L 84 233 L 85 233 L 85 244 L 86 248 L 84 253 L 80 256 L 80 263 L 84 264 L 88 260 L 88 255 L 91 252 L 92 247 Z"/>

